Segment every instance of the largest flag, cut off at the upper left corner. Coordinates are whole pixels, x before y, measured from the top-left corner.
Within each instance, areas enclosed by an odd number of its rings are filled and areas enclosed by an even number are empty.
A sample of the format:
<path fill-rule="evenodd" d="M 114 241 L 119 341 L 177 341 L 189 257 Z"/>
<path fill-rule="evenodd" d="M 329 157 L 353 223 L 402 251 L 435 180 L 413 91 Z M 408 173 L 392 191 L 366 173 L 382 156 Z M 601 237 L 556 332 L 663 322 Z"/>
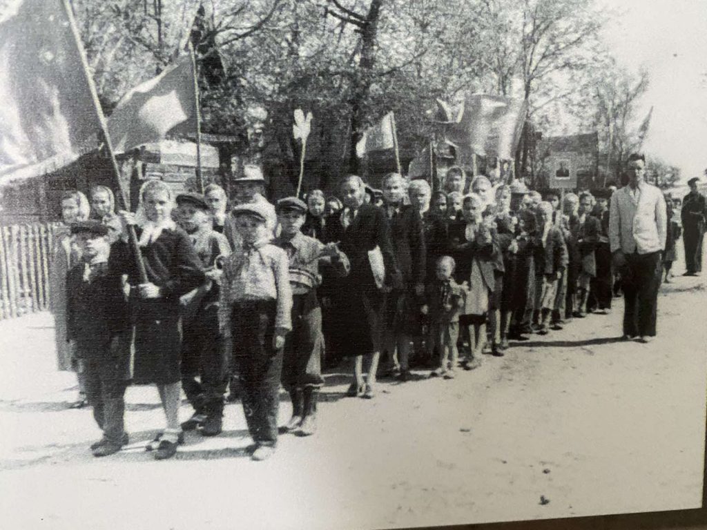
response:
<path fill-rule="evenodd" d="M 62 0 L 0 12 L 0 179 L 36 177 L 98 146 L 100 121 Z"/>

